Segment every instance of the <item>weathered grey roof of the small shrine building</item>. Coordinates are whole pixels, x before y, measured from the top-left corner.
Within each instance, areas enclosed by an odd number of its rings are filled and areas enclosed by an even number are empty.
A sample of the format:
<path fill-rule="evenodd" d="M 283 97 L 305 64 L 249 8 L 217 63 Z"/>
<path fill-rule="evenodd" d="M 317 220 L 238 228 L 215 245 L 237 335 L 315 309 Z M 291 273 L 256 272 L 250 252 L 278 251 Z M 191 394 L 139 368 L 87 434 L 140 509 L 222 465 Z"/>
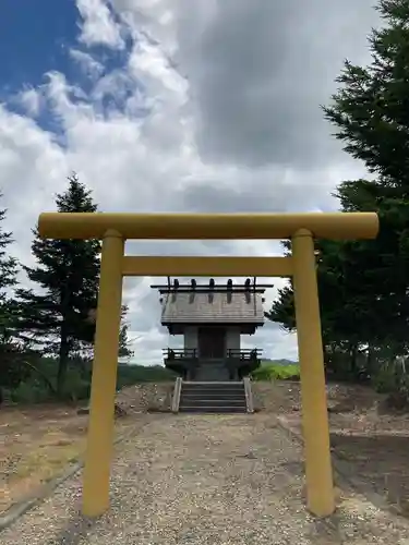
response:
<path fill-rule="evenodd" d="M 172 291 L 163 295 L 161 324 L 263 325 L 262 293 Z"/>

